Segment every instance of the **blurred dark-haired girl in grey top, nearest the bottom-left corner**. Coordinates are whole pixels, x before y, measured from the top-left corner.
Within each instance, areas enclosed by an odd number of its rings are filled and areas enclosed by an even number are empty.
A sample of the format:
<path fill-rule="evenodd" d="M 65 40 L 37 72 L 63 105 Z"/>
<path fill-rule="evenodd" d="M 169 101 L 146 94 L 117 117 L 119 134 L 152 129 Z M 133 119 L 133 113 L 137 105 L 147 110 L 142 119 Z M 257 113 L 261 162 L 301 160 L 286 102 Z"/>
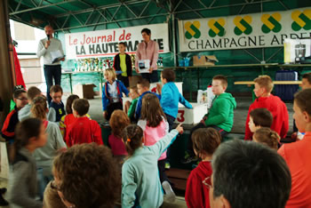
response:
<path fill-rule="evenodd" d="M 45 127 L 40 119 L 28 118 L 16 126 L 8 185 L 10 207 L 43 207 L 42 202 L 35 199 L 37 182 L 33 153 L 36 148 L 45 145 L 46 138 Z"/>

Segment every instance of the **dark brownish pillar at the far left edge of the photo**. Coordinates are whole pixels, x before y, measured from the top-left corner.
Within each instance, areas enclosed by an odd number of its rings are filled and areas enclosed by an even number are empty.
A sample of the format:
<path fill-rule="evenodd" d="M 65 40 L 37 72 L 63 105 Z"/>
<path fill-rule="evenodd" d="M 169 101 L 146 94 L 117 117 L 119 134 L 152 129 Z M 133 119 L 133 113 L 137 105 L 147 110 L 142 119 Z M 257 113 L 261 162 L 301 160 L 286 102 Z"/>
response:
<path fill-rule="evenodd" d="M 10 111 L 10 100 L 13 90 L 13 60 L 11 42 L 10 22 L 8 16 L 7 0 L 0 1 L 0 97 L 4 101 L 4 112 L 0 116 L 0 126 L 4 123 L 5 116 Z M 12 47 L 12 45 L 11 45 Z"/>

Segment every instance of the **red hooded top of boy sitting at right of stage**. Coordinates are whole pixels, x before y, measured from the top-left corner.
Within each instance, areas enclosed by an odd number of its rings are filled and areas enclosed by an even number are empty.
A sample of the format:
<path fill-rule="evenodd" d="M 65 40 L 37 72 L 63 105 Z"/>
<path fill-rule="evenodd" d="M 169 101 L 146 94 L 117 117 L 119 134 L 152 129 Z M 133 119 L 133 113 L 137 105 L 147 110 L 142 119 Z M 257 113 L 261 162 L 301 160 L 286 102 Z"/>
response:
<path fill-rule="evenodd" d="M 255 108 L 267 108 L 273 116 L 271 129 L 277 132 L 282 139 L 286 137 L 289 130 L 289 116 L 286 105 L 279 97 L 271 94 L 269 97 L 258 98 L 251 103 L 245 124 L 244 140 L 252 140 L 252 132 L 249 128 L 249 122 L 250 112 Z"/>

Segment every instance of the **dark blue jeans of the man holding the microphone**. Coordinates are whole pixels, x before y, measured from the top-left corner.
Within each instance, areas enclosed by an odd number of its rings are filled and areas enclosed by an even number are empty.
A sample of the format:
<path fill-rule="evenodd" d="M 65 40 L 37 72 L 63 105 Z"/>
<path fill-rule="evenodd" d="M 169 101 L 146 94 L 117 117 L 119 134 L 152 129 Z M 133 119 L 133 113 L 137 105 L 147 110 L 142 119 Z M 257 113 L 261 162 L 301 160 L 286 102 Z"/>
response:
<path fill-rule="evenodd" d="M 54 78 L 54 84 L 60 85 L 60 78 L 61 78 L 60 65 L 44 65 L 44 76 L 45 76 L 45 81 L 46 81 L 46 97 L 50 105 L 51 100 L 52 100 L 50 96 L 50 88 L 53 85 L 53 78 Z"/>

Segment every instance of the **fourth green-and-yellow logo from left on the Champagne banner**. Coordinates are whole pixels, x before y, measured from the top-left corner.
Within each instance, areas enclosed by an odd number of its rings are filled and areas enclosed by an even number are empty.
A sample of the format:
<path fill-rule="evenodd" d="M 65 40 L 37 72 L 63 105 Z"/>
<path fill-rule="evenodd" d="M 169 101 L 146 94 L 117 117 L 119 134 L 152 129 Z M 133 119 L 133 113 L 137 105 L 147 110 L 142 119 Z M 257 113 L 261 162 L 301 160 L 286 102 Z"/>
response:
<path fill-rule="evenodd" d="M 263 33 L 269 33 L 271 31 L 278 33 L 282 29 L 282 25 L 280 24 L 280 20 L 282 16 L 279 12 L 275 12 L 272 15 L 270 14 L 263 14 L 261 16 L 261 21 L 264 23 L 261 26 L 261 30 Z"/>

